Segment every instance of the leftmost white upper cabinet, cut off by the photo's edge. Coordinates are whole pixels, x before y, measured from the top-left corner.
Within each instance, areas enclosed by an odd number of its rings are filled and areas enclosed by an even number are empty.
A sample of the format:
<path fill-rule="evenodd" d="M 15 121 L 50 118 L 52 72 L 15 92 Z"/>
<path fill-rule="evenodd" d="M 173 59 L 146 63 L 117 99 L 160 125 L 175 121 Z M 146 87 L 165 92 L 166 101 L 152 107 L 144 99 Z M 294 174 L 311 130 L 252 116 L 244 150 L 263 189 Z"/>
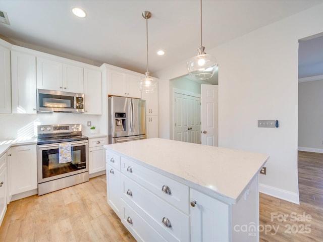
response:
<path fill-rule="evenodd" d="M 11 113 L 10 47 L 0 42 L 0 113 Z M 9 45 L 9 43 L 8 43 Z"/>

